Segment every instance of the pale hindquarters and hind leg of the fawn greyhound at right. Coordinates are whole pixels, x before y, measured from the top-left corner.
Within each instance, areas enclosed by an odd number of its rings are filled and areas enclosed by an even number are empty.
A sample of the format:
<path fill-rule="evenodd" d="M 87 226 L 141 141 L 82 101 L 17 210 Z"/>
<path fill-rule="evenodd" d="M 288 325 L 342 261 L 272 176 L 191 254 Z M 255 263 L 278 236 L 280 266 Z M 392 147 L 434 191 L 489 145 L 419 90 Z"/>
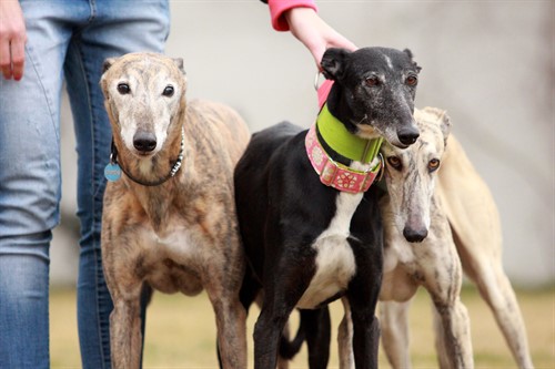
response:
<path fill-rule="evenodd" d="M 443 156 L 437 195 L 463 270 L 492 309 L 518 368 L 533 369 L 524 319 L 503 268 L 501 221 L 492 193 L 454 136 Z"/>

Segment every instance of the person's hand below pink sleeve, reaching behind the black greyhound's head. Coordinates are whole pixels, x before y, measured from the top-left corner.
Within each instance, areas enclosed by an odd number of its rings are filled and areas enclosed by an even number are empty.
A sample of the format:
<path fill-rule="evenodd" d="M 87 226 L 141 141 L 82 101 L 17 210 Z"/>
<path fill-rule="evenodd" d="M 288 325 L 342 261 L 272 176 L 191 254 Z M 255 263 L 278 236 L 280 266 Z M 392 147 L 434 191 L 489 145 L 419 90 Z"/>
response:
<path fill-rule="evenodd" d="M 312 53 L 319 70 L 326 49 L 343 48 L 351 51 L 356 45 L 330 27 L 311 8 L 292 8 L 285 12 L 291 33 Z"/>

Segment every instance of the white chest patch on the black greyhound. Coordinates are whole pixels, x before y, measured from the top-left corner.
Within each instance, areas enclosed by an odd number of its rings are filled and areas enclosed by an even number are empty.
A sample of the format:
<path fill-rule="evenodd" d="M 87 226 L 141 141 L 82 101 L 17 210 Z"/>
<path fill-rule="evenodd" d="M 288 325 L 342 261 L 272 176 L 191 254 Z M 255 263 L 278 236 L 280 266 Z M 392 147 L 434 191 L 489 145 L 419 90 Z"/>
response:
<path fill-rule="evenodd" d="M 363 194 L 340 193 L 330 226 L 312 244 L 316 250 L 316 273 L 297 303 L 300 308 L 314 308 L 347 288 L 356 271 L 354 254 L 347 238 L 351 219 Z"/>

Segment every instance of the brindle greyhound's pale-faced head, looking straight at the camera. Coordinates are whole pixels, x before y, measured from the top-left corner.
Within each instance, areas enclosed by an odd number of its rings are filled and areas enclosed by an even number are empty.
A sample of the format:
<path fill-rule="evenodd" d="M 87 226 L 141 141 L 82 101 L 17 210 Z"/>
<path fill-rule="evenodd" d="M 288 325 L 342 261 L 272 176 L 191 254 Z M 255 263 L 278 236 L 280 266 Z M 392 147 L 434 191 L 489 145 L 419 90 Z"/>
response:
<path fill-rule="evenodd" d="M 100 84 L 114 139 L 130 153 L 154 155 L 172 131 L 181 132 L 186 85 L 183 60 L 154 53 L 110 58 Z"/>

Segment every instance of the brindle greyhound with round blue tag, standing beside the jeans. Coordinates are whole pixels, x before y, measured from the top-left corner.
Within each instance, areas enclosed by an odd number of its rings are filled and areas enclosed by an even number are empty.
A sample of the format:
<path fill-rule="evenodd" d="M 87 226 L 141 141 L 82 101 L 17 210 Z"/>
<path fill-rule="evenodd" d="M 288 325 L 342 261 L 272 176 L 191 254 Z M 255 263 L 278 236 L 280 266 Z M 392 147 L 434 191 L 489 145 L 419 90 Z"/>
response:
<path fill-rule="evenodd" d="M 139 368 L 140 295 L 206 290 L 224 368 L 246 367 L 244 274 L 233 167 L 249 141 L 242 119 L 185 101 L 181 59 L 134 53 L 109 59 L 101 79 L 113 131 L 102 217 L 105 279 L 113 298 L 112 365 Z"/>

